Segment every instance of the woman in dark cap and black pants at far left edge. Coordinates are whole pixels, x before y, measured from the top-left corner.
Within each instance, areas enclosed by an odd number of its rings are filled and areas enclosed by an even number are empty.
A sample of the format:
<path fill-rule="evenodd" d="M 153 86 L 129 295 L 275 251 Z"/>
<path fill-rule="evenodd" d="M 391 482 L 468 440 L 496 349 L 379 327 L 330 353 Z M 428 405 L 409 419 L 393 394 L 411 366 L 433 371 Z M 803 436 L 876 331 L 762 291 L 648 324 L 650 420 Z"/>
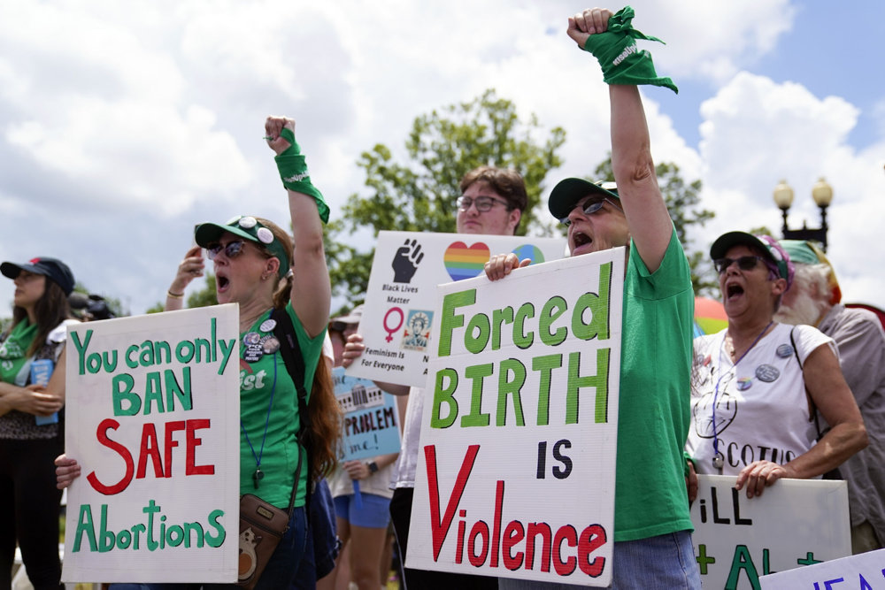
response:
<path fill-rule="evenodd" d="M 0 264 L 15 283 L 12 327 L 0 336 L 0 578 L 18 541 L 35 588 L 58 588 L 58 506 L 52 460 L 64 448 L 65 324 L 73 274 L 55 258 Z M 53 371 L 54 369 L 54 371 Z"/>

